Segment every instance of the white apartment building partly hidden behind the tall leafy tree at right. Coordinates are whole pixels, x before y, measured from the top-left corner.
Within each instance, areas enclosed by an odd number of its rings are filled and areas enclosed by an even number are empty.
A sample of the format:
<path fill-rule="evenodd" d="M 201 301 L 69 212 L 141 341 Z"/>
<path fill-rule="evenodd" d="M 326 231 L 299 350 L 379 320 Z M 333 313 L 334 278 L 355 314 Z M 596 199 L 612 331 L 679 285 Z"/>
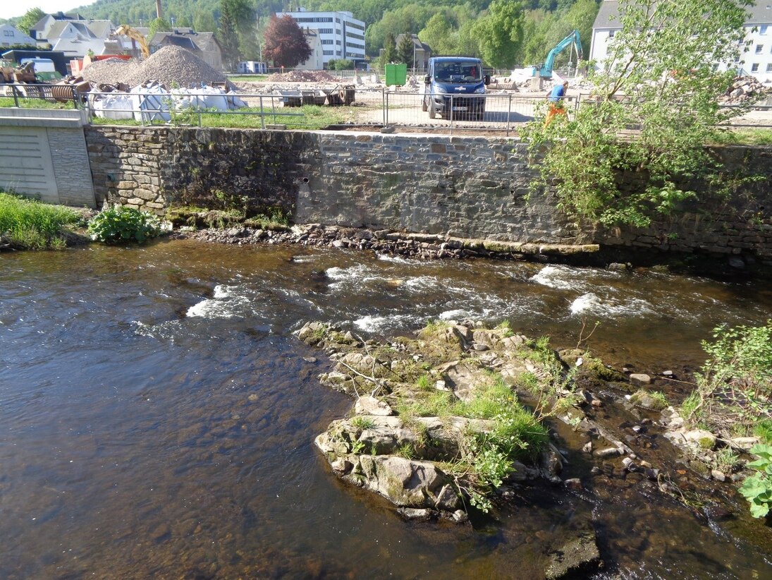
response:
<path fill-rule="evenodd" d="M 740 74 L 755 76 L 761 83 L 772 82 L 772 0 L 757 0 L 758 4 L 747 8 L 745 39 L 750 49 L 740 57 L 737 68 Z M 618 0 L 604 0 L 592 26 L 590 59 L 602 66 L 608 56 L 608 42 L 621 29 L 617 18 Z"/>

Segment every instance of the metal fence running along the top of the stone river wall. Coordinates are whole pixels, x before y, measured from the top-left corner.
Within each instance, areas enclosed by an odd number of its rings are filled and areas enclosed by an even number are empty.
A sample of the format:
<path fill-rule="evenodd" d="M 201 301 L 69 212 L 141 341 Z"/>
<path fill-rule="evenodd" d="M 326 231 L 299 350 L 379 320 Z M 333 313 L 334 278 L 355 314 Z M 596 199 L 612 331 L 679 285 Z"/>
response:
<path fill-rule="evenodd" d="M 225 93 L 212 87 L 172 90 L 154 87 L 134 93 L 81 94 L 72 86 L 5 84 L 0 107 L 84 108 L 94 124 L 174 124 L 198 127 L 320 129 L 330 126 L 415 127 L 430 131 L 496 131 L 509 136 L 516 127 L 543 114 L 543 93 L 510 90 L 484 94 L 430 95 L 339 85 L 336 90 L 281 90 Z M 569 117 L 589 102 L 589 93 L 564 100 Z M 42 103 L 45 101 L 45 104 Z M 316 105 L 317 107 L 306 107 Z M 726 105 L 727 109 L 739 107 Z M 733 124 L 772 128 L 772 103 L 756 103 Z"/>

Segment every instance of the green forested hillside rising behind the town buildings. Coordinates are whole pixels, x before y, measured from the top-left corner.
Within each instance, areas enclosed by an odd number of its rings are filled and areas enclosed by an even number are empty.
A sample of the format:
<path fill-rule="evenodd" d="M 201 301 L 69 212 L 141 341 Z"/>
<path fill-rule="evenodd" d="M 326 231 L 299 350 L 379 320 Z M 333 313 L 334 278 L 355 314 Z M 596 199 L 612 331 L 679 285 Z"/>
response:
<path fill-rule="evenodd" d="M 200 32 L 217 30 L 222 2 L 229 0 L 162 0 L 164 19 Z M 259 16 L 283 10 L 347 10 L 367 23 L 367 53 L 378 56 L 389 33 L 417 33 L 435 53 L 481 56 L 502 67 L 543 61 L 550 49 L 578 29 L 589 53 L 598 0 L 245 0 Z M 440 3 L 441 2 L 441 3 Z M 97 0 L 78 12 L 116 24 L 148 25 L 155 18 L 154 0 Z"/>

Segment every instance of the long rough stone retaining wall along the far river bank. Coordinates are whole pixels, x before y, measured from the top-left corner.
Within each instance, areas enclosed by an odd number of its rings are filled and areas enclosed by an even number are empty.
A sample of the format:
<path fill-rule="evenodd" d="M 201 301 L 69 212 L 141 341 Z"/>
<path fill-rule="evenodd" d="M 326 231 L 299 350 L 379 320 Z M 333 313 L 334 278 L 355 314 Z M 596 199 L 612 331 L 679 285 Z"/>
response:
<path fill-rule="evenodd" d="M 506 242 L 772 258 L 772 149 L 722 150 L 727 175 L 764 178 L 730 200 L 684 205 L 647 229 L 578 228 L 517 141 L 497 137 L 178 127 L 88 127 L 97 197 L 161 214 L 165 204 L 281 206 L 296 222 Z"/>

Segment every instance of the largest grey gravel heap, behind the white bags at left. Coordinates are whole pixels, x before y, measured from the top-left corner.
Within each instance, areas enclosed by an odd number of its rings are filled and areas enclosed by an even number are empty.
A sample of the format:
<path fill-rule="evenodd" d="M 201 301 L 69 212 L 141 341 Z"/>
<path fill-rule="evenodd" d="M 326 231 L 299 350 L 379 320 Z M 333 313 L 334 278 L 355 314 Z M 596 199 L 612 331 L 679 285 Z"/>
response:
<path fill-rule="evenodd" d="M 157 80 L 167 88 L 198 87 L 201 83 L 225 83 L 225 75 L 212 68 L 189 50 L 179 46 L 164 46 L 143 61 L 106 59 L 83 69 L 83 79 L 93 83 L 126 83 L 137 86 Z"/>

